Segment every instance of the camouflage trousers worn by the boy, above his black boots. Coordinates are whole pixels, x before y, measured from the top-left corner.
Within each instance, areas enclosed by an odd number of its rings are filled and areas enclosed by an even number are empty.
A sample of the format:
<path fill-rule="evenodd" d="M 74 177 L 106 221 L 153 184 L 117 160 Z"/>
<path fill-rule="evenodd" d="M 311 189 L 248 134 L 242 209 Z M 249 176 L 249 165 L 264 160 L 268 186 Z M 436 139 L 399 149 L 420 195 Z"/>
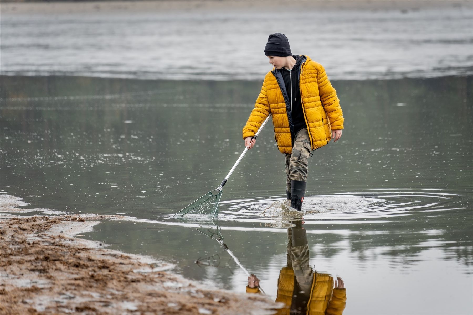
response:
<path fill-rule="evenodd" d="M 309 134 L 307 128 L 303 128 L 294 139 L 292 153 L 286 154 L 286 189 L 289 192 L 291 191 L 291 180 L 307 181 L 307 158 L 311 152 Z"/>

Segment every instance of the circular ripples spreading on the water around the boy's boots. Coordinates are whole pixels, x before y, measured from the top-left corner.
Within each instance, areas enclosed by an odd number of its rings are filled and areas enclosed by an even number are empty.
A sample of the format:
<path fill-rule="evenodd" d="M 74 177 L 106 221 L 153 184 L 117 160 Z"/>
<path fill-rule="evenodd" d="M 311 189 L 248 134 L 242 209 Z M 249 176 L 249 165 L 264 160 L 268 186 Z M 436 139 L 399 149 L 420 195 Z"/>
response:
<path fill-rule="evenodd" d="M 459 200 L 460 196 L 443 192 L 441 189 L 380 190 L 306 196 L 301 213 L 291 211 L 290 207 L 284 205 L 283 198 L 230 200 L 221 203 L 219 221 L 271 224 L 296 219 L 302 214 L 306 224 L 380 223 L 399 220 L 399 217 L 419 212 L 464 209 L 452 207 L 452 203 Z"/>

